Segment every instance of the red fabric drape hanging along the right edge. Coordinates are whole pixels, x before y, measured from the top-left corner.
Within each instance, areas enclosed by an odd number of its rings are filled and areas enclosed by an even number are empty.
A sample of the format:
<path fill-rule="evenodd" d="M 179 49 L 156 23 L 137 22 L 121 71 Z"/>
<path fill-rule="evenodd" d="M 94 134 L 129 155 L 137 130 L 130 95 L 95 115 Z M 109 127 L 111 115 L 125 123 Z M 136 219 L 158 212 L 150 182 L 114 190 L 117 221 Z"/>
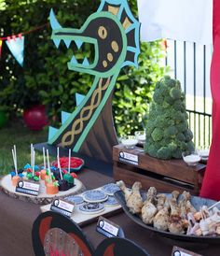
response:
<path fill-rule="evenodd" d="M 220 200 L 220 1 L 213 0 L 213 59 L 211 90 L 213 95 L 213 138 L 200 196 Z"/>

